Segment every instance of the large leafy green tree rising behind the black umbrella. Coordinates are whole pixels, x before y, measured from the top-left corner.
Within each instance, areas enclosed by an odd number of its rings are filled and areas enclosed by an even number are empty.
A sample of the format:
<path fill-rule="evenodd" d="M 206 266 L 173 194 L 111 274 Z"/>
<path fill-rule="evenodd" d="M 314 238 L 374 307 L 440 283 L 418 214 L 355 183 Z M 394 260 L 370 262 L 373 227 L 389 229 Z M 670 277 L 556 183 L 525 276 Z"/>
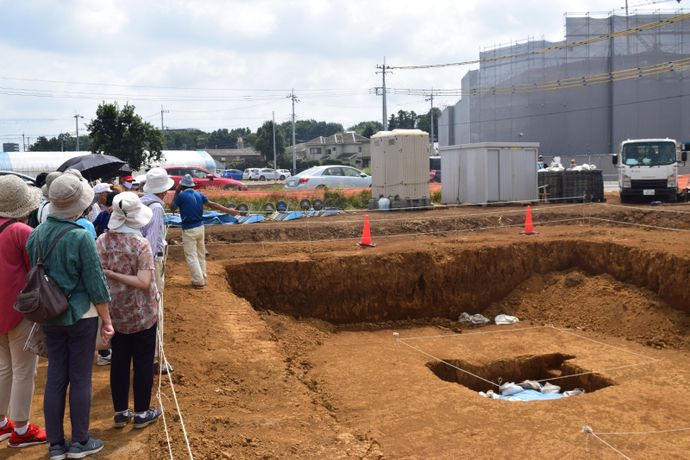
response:
<path fill-rule="evenodd" d="M 96 118 L 86 125 L 93 153 L 124 160 L 133 171 L 160 161 L 164 145 L 163 133 L 136 115 L 134 108 L 127 103 L 120 110 L 117 101 L 103 102 L 96 110 Z"/>

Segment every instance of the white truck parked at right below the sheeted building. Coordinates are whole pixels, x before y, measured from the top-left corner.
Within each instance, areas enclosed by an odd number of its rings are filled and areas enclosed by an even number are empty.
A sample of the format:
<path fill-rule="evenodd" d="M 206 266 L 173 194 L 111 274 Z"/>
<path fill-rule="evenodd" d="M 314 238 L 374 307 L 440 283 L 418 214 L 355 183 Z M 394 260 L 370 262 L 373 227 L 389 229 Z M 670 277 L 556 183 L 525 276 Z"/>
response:
<path fill-rule="evenodd" d="M 680 160 L 677 146 L 673 139 L 629 139 L 621 144 L 613 164 L 622 203 L 643 196 L 678 201 L 678 163 L 685 163 L 690 145 L 682 144 Z"/>

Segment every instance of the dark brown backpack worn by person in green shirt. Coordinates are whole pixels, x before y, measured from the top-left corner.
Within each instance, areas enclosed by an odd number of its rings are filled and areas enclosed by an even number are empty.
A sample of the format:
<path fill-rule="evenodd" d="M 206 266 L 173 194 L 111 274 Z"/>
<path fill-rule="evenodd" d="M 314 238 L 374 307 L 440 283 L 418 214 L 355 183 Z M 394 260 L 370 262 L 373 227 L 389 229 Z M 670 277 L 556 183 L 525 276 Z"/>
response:
<path fill-rule="evenodd" d="M 36 230 L 36 264 L 26 274 L 26 286 L 22 292 L 17 294 L 17 303 L 14 304 L 14 309 L 22 313 L 27 320 L 35 323 L 47 323 L 69 308 L 69 297 L 72 295 L 65 297 L 55 280 L 46 275 L 44 261 L 60 238 L 76 228 L 80 227 L 71 227 L 60 233 L 45 255 L 41 254 L 40 235 Z"/>

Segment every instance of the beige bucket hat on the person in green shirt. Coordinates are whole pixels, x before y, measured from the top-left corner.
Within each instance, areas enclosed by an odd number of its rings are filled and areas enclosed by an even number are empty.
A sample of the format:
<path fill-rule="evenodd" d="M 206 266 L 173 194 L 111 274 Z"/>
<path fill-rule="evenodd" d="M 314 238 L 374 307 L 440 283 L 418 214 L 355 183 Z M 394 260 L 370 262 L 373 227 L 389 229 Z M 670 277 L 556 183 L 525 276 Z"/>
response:
<path fill-rule="evenodd" d="M 78 177 L 81 173 L 70 169 L 51 184 L 50 213 L 55 217 L 71 219 L 80 216 L 91 205 L 93 189 L 86 179 L 79 180 Z"/>

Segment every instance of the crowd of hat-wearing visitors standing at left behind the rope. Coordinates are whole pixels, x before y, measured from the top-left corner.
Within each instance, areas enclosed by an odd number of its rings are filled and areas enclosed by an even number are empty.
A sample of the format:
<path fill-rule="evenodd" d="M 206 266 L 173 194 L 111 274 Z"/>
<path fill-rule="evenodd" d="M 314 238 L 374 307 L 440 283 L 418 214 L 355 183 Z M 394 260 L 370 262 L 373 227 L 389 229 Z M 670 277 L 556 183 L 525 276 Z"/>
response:
<path fill-rule="evenodd" d="M 173 184 L 165 169 L 153 168 L 144 196 L 111 194 L 109 187 L 98 184 L 94 190 L 79 171 L 68 170 L 46 177 L 43 199 L 41 190 L 17 176 L 0 177 L 0 440 L 9 438 L 9 447 L 49 443 L 50 458 L 56 460 L 103 449 L 103 442 L 88 432 L 97 343 L 110 344 L 112 350 L 114 426 L 132 421 L 135 428 L 143 428 L 161 415 L 150 402 L 164 289 L 163 197 Z M 94 203 L 96 193 L 99 200 Z M 99 223 L 96 239 L 92 222 L 98 217 L 109 222 Z M 38 222 L 35 229 L 27 225 L 30 218 Z M 71 231 L 59 237 L 67 229 Z M 53 243 L 44 261 L 46 273 L 68 298 L 69 308 L 38 324 L 48 349 L 43 431 L 29 423 L 38 356 L 24 351 L 24 345 L 34 325 L 13 305 L 36 264 L 37 244 L 45 254 Z M 63 427 L 68 387 L 69 441 Z"/>

